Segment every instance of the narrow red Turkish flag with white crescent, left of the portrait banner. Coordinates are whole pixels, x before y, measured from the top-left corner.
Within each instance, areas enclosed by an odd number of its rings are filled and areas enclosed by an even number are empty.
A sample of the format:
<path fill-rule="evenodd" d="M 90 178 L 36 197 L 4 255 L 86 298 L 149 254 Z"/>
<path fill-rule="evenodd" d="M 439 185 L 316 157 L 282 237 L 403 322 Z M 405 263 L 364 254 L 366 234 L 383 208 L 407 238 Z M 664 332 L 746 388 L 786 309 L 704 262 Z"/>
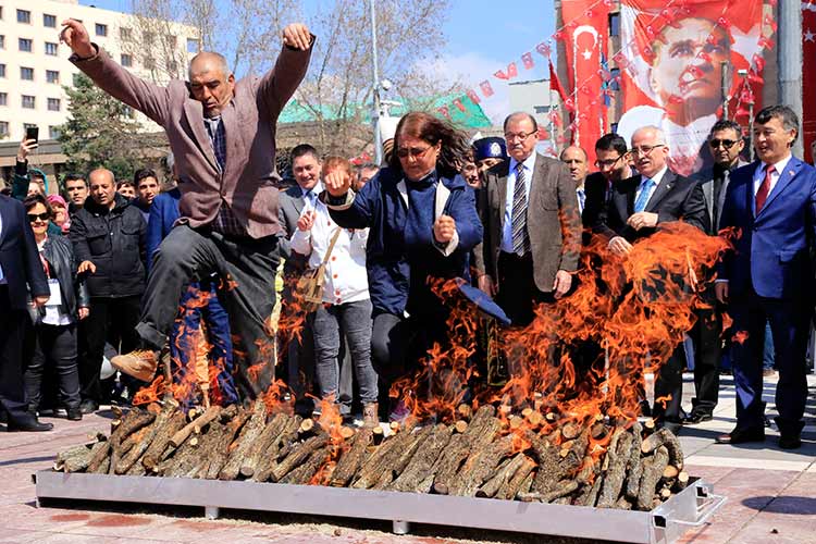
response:
<path fill-rule="evenodd" d="M 606 104 L 603 94 L 602 58 L 607 54 L 609 7 L 606 2 L 564 0 L 564 29 L 567 52 L 567 88 L 570 89 L 574 133 L 572 140 L 586 151 L 589 162 L 595 161 L 595 141 L 604 135 Z M 552 84 L 551 77 L 551 86 Z M 569 103 L 565 100 L 565 103 Z"/>

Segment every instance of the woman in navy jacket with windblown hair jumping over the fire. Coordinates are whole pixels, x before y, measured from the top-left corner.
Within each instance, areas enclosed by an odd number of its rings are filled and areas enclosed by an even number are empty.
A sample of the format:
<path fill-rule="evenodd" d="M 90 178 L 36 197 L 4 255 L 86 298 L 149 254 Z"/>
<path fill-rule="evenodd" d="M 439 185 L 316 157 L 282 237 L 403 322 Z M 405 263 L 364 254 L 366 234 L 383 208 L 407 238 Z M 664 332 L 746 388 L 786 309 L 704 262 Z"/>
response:
<path fill-rule="evenodd" d="M 323 181 L 332 219 L 345 228 L 370 227 L 371 355 L 386 385 L 416 370 L 434 342 L 445 344 L 447 311 L 429 279 L 470 276 L 482 224 L 473 190 L 459 175 L 469 150 L 450 124 L 412 112 L 397 125 L 388 166 L 359 194 L 342 172 Z M 400 409 L 392 415 L 404 416 Z"/>

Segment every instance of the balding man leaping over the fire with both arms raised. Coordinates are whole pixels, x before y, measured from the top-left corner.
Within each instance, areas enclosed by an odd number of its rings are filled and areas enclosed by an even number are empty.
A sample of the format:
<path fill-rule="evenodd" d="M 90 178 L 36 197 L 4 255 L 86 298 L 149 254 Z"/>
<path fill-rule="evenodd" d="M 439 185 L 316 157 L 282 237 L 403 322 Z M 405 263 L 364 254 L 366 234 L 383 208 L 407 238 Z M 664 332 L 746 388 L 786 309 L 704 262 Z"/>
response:
<path fill-rule="evenodd" d="M 154 370 L 177 302 L 195 275 L 218 272 L 232 288 L 224 302 L 236 348 L 239 392 L 254 398 L 274 375 L 267 322 L 279 263 L 275 123 L 306 74 L 314 37 L 305 25 L 283 30 L 283 50 L 263 77 L 236 82 L 223 55 L 198 53 L 189 82 L 159 87 L 113 62 L 83 24 L 63 23 L 72 62 L 111 96 L 163 126 L 175 157 L 181 214 L 154 256 L 138 333 L 141 350 L 111 361 L 129 374 Z"/>

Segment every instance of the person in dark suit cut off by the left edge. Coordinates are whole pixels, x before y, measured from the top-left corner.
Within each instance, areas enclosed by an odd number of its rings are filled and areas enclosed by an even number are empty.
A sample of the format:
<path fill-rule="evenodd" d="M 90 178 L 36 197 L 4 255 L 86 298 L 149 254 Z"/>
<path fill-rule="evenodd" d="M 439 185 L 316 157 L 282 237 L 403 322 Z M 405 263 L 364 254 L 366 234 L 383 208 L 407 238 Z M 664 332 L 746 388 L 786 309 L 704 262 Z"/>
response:
<path fill-rule="evenodd" d="M 36 306 L 50 296 L 37 243 L 23 203 L 0 195 L 0 408 L 9 431 L 50 431 L 28 412 L 23 381 L 23 338 L 30 295 Z"/>

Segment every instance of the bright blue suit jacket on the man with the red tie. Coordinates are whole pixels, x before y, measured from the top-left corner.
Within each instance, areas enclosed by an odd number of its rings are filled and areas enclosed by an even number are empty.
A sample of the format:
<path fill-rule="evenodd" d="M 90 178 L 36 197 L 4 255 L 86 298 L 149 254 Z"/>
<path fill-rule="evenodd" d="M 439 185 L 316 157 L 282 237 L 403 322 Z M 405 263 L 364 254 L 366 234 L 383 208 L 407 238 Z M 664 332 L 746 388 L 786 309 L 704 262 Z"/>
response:
<path fill-rule="evenodd" d="M 811 293 L 809 249 L 816 240 L 816 170 L 792 157 L 765 206 L 754 217 L 754 173 L 759 161 L 735 170 L 728 185 L 720 228 L 737 227 L 734 251 L 720 263 L 729 296 L 753 286 L 761 297 L 793 298 Z"/>

